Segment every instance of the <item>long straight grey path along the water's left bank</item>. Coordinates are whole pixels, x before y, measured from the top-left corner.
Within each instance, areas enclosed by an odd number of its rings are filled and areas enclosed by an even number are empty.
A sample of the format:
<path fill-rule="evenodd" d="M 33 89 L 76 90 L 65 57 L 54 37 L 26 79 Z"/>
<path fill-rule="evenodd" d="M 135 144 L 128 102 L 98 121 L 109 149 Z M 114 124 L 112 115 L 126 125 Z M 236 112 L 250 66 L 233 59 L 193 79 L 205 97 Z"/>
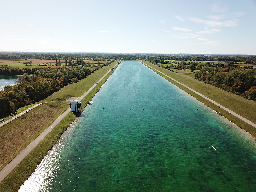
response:
<path fill-rule="evenodd" d="M 117 63 L 118 64 L 118 63 Z M 117 65 L 116 64 L 116 65 Z M 116 67 L 116 65 L 114 67 Z M 81 102 L 82 99 L 90 92 L 92 89 L 100 83 L 100 81 L 110 73 L 111 70 L 109 70 L 103 77 L 100 78 L 99 81 L 97 81 L 92 87 L 85 92 L 81 97 L 78 98 L 78 101 Z M 50 101 L 52 102 L 52 101 Z M 33 106 L 34 107 L 34 106 Z M 71 111 L 71 108 L 68 108 L 64 113 L 62 113 L 52 124 L 50 124 L 49 127 L 47 127 L 38 137 L 33 140 L 25 149 L 23 149 L 10 163 L 8 163 L 1 171 L 0 171 L 0 182 L 28 155 L 30 151 L 32 151 L 38 143 L 40 143 L 46 135 L 48 135 L 49 132 L 52 131 L 52 129 L 60 123 L 60 121 L 68 115 L 68 113 Z M 26 111 L 25 111 L 26 113 Z"/>

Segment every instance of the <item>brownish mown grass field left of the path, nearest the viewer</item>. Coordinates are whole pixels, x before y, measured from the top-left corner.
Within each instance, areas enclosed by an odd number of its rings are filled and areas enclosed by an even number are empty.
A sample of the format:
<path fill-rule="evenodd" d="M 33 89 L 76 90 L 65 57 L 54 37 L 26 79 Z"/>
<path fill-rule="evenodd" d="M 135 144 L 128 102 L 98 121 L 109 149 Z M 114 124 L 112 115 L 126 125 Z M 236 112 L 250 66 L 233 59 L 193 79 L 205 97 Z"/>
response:
<path fill-rule="evenodd" d="M 0 127 L 0 170 L 68 107 L 68 102 L 44 103 Z"/>

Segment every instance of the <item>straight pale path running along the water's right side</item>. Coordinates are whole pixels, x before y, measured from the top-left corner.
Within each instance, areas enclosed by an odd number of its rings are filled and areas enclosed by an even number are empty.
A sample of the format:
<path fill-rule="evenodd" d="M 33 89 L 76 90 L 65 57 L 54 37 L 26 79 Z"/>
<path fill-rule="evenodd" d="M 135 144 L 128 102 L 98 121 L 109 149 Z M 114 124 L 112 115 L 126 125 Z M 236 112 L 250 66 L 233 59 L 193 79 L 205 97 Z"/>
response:
<path fill-rule="evenodd" d="M 141 61 L 141 63 L 143 63 L 144 65 L 148 66 L 149 68 L 155 69 L 155 68 L 153 68 L 153 67 L 149 66 L 148 64 L 146 64 L 146 63 L 142 62 L 142 61 Z M 156 71 L 158 71 L 157 69 L 155 69 L 155 70 L 156 70 Z M 170 77 L 170 76 L 168 76 L 168 75 L 165 75 L 165 74 L 164 74 L 164 73 L 162 73 L 161 71 L 158 71 L 158 72 L 159 72 L 159 73 L 161 73 L 161 74 L 163 74 L 164 76 L 169 77 L 170 79 L 172 79 L 173 81 L 177 82 L 178 84 L 181 84 L 182 86 L 184 86 L 184 87 L 188 88 L 190 91 L 193 91 L 194 93 L 196 93 L 196 94 L 200 95 L 200 96 L 201 96 L 201 97 L 203 97 L 204 99 L 207 99 L 208 101 L 211 101 L 213 104 L 215 104 L 215 105 L 219 106 L 220 108 L 223 108 L 224 110 L 228 111 L 228 112 L 229 112 L 229 113 L 231 113 L 232 115 L 234 115 L 234 116 L 238 117 L 239 119 L 243 120 L 244 122 L 246 122 L 246 123 L 248 123 L 248 124 L 250 124 L 250 125 L 252 125 L 253 127 L 255 127 L 255 128 L 256 128 L 256 124 L 255 124 L 255 123 L 253 123 L 253 122 L 249 121 L 248 119 L 246 119 L 246 118 L 242 117 L 241 115 L 238 115 L 238 114 L 237 114 L 237 113 L 235 113 L 234 111 L 231 111 L 230 109 L 228 109 L 228 108 L 226 108 L 226 107 L 224 107 L 224 106 L 220 105 L 219 103 L 217 103 L 217 102 L 215 102 L 215 101 L 213 101 L 213 100 L 209 99 L 208 97 L 206 97 L 206 96 L 202 95 L 201 93 L 199 93 L 199 92 L 197 92 L 197 91 L 195 91 L 195 90 L 193 90 L 193 89 L 189 88 L 188 86 L 186 86 L 186 85 L 184 85 L 184 84 L 180 83 L 179 81 L 177 81 L 177 80 L 173 79 L 172 77 Z"/>

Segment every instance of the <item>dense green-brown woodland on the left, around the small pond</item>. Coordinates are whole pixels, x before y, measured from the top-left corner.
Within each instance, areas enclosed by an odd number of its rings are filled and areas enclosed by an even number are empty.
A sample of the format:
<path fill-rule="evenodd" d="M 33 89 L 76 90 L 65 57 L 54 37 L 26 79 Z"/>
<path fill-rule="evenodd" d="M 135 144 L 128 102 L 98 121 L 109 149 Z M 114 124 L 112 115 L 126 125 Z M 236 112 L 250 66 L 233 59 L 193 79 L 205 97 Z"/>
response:
<path fill-rule="evenodd" d="M 1 65 L 0 74 L 22 76 L 18 77 L 16 85 L 5 86 L 4 90 L 0 91 L 0 116 L 13 113 L 17 108 L 24 105 L 43 100 L 65 85 L 76 83 L 93 73 L 93 71 L 102 68 L 102 66 L 109 65 L 111 62 L 91 70 L 85 66 L 17 69 Z"/>

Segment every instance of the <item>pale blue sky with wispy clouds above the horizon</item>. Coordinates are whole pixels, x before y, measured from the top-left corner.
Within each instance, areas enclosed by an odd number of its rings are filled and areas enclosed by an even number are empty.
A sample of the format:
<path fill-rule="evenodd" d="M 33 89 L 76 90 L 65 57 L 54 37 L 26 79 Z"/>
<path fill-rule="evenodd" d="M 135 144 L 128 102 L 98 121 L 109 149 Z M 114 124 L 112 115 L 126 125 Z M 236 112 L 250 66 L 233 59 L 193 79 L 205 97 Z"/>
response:
<path fill-rule="evenodd" d="M 0 0 L 0 51 L 256 54 L 256 0 Z"/>

